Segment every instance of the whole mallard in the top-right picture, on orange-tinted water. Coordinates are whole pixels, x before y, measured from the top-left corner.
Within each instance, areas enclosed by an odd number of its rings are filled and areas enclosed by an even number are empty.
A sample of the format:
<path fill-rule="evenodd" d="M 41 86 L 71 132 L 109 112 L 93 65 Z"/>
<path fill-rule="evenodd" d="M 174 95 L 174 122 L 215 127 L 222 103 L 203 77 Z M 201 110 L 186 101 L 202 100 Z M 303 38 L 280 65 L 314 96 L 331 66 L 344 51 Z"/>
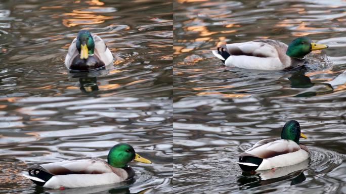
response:
<path fill-rule="evenodd" d="M 253 40 L 223 44 L 212 53 L 226 66 L 257 70 L 283 70 L 304 64 L 311 51 L 326 49 L 306 36 L 294 39 L 288 46 L 277 40 Z"/>

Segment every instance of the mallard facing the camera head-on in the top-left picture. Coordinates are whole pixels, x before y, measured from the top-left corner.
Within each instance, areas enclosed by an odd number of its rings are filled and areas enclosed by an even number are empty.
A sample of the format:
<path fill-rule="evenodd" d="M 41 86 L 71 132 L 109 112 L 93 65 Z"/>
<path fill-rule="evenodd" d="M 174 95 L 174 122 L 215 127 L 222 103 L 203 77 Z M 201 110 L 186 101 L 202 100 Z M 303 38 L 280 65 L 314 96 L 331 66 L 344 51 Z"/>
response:
<path fill-rule="evenodd" d="M 106 43 L 88 30 L 80 30 L 73 39 L 65 58 L 65 65 L 70 70 L 90 71 L 109 65 L 113 55 Z"/>

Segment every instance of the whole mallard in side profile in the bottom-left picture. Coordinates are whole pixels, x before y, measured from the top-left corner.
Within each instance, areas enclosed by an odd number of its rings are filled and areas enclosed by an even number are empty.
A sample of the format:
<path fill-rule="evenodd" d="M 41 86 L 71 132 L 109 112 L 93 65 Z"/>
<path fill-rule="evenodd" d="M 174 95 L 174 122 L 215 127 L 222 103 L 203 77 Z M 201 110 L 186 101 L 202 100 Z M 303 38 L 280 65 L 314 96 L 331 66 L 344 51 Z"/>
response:
<path fill-rule="evenodd" d="M 47 188 L 84 187 L 112 184 L 131 179 L 135 171 L 127 165 L 137 161 L 150 164 L 126 143 L 116 144 L 108 153 L 107 162 L 99 158 L 76 158 L 30 166 L 29 178 L 39 186 Z"/>

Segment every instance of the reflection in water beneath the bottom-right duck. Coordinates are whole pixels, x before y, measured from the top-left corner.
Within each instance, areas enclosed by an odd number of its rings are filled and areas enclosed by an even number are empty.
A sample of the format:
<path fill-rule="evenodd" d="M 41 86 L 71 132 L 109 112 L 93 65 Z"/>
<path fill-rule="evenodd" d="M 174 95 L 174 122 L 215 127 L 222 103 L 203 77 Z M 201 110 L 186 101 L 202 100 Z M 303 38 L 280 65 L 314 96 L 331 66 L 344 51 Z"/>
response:
<path fill-rule="evenodd" d="M 240 189 L 249 189 L 257 186 L 272 184 L 279 181 L 290 181 L 290 185 L 306 180 L 304 170 L 309 166 L 309 160 L 296 165 L 285 166 L 270 170 L 243 172 L 238 178 Z"/>

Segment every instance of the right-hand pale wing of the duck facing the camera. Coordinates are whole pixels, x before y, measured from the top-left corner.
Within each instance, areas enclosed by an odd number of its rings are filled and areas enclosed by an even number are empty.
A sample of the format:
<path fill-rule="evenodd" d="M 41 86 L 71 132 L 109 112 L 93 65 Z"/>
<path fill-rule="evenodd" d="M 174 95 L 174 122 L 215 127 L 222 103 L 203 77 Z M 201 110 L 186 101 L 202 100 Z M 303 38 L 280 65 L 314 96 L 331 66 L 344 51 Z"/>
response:
<path fill-rule="evenodd" d="M 95 42 L 94 54 L 105 64 L 113 63 L 113 55 L 108 49 L 106 43 L 98 35 L 92 35 Z"/>

